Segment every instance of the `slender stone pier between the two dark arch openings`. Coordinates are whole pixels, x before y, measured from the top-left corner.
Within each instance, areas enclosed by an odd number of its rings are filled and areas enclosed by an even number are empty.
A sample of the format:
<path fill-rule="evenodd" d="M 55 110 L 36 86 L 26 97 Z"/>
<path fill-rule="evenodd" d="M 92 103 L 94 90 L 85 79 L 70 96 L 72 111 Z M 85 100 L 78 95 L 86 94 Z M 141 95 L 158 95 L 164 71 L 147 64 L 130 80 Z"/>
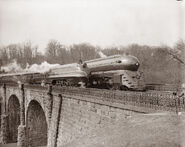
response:
<path fill-rule="evenodd" d="M 17 146 L 26 147 L 26 125 L 25 125 L 25 92 L 24 84 L 20 85 L 21 101 L 20 101 L 20 125 L 18 127 Z"/>

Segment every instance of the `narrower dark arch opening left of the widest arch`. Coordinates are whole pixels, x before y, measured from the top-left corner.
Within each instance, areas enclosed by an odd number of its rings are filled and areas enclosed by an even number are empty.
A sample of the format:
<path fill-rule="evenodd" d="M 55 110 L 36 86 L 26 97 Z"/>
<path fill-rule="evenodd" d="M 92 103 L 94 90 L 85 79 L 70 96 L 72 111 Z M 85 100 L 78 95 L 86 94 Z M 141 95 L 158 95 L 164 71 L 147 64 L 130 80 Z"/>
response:
<path fill-rule="evenodd" d="M 20 125 L 20 103 L 16 95 L 8 99 L 8 142 L 17 142 L 18 126 Z"/>

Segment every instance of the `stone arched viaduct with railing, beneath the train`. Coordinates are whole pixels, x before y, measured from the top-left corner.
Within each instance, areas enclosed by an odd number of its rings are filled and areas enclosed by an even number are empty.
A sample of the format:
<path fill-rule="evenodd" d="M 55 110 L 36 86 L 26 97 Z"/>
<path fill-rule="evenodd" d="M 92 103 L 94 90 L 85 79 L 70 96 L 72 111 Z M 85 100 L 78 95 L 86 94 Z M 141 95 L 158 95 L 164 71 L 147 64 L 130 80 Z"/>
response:
<path fill-rule="evenodd" d="M 59 147 L 129 115 L 184 109 L 170 93 L 23 84 L 1 85 L 0 99 L 1 142 L 18 147 Z"/>

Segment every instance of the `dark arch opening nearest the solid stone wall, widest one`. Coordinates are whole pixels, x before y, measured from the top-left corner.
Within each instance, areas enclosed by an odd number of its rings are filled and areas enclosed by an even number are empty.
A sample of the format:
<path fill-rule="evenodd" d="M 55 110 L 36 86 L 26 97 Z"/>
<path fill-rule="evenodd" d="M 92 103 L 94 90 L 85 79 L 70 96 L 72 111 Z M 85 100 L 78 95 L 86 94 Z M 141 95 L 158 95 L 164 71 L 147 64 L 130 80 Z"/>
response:
<path fill-rule="evenodd" d="M 38 101 L 30 101 L 28 104 L 26 116 L 26 138 L 28 146 L 46 146 L 48 124 L 44 110 Z"/>

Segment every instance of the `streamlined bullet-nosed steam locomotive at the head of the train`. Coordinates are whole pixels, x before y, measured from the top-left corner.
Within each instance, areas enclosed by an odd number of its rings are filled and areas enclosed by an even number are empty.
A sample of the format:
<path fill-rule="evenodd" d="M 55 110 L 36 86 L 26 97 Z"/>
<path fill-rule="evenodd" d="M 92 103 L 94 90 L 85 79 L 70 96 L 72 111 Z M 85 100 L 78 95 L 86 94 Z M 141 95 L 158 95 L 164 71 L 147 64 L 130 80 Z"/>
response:
<path fill-rule="evenodd" d="M 134 56 L 115 55 L 86 61 L 84 65 L 90 87 L 144 90 L 143 75 L 138 71 L 139 60 Z"/>

